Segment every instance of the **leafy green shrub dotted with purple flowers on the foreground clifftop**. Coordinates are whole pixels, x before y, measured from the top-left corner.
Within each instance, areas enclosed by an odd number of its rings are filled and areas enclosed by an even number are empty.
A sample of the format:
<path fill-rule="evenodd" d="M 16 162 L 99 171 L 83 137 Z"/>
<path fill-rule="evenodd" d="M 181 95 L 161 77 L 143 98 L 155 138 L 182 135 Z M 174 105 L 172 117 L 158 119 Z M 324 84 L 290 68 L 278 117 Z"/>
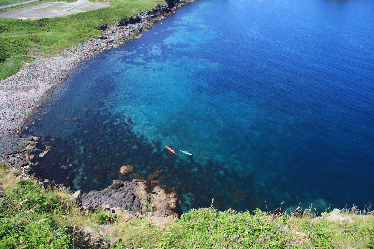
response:
<path fill-rule="evenodd" d="M 301 248 L 286 230 L 288 215 L 268 215 L 259 209 L 249 212 L 212 208 L 191 209 L 178 223 L 188 234 L 187 243 L 197 248 Z"/>

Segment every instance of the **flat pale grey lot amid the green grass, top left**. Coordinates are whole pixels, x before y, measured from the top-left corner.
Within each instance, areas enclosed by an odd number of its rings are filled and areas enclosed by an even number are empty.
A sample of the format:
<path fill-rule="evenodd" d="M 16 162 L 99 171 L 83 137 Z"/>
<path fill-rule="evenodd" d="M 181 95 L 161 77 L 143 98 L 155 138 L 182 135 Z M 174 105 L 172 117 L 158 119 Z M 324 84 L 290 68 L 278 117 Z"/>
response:
<path fill-rule="evenodd" d="M 30 0 L 33 1 L 33 0 Z M 25 3 L 25 2 L 23 2 Z M 9 10 L 0 13 L 0 18 L 30 18 L 36 20 L 40 18 L 51 18 L 56 16 L 65 16 L 79 12 L 86 12 L 93 9 L 100 9 L 110 6 L 109 3 L 104 2 L 90 2 L 88 0 L 78 0 L 75 3 L 71 2 L 52 2 L 41 3 L 38 5 L 28 6 L 21 9 Z"/>

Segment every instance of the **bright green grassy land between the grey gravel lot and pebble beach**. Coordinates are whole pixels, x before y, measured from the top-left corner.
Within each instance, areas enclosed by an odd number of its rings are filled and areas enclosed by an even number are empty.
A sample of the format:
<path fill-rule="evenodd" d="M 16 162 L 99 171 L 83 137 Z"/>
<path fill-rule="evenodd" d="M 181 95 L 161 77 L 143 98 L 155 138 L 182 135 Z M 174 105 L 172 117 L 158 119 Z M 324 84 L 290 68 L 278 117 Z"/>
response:
<path fill-rule="evenodd" d="M 45 0 L 40 1 L 45 2 Z M 100 25 L 113 26 L 151 10 L 156 0 L 110 0 L 111 6 L 55 18 L 0 19 L 0 79 L 18 72 L 22 62 L 77 46 L 102 33 Z"/>

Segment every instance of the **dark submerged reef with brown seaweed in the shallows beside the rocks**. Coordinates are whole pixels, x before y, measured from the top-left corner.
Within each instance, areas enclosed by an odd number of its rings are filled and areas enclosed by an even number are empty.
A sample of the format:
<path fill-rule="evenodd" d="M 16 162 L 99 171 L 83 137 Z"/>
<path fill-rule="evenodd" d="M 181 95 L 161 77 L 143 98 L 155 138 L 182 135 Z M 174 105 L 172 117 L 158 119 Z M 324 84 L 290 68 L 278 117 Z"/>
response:
<path fill-rule="evenodd" d="M 150 188 L 161 186 L 178 192 L 182 211 L 210 206 L 213 197 L 219 210 L 251 210 L 263 205 L 250 201 L 259 199 L 251 195 L 250 178 L 238 178 L 212 160 L 202 164 L 194 162 L 193 156 L 181 159 L 160 141 L 135 134 L 129 117 L 107 110 L 80 110 L 72 113 L 77 117 L 74 121 L 72 117 L 61 119 L 67 127 L 61 136 L 40 139 L 39 150 L 49 148 L 49 153 L 39 157 L 40 151 L 35 151 L 31 160 L 35 175 L 82 193 L 100 190 L 117 179 L 147 180 Z M 43 126 L 38 115 L 43 114 L 37 114 L 31 121 L 34 124 L 23 132 L 31 134 L 33 127 Z"/>

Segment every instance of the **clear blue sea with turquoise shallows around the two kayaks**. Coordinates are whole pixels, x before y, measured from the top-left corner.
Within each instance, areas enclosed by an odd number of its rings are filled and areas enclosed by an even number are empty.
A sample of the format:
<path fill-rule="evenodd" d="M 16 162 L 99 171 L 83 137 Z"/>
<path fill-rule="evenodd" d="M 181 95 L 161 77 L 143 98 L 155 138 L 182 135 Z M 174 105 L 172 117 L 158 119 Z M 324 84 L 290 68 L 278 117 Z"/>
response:
<path fill-rule="evenodd" d="M 46 96 L 33 173 L 147 179 L 182 212 L 374 202 L 374 1 L 198 0 L 142 34 Z"/>

